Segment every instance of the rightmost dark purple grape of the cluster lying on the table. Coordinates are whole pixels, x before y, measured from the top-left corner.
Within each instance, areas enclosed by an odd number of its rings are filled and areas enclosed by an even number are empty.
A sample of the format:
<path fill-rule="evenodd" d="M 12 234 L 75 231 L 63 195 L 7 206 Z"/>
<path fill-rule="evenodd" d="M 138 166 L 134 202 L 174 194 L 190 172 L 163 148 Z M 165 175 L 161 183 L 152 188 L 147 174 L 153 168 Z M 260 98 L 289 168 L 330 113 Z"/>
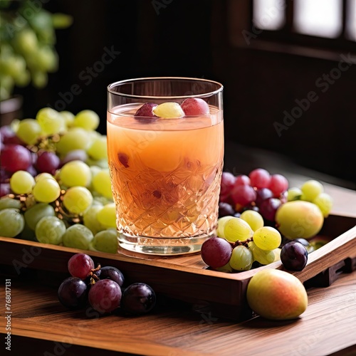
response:
<path fill-rule="evenodd" d="M 150 312 L 156 304 L 155 291 L 145 283 L 133 283 L 122 293 L 121 309 L 124 313 L 140 315 Z"/>

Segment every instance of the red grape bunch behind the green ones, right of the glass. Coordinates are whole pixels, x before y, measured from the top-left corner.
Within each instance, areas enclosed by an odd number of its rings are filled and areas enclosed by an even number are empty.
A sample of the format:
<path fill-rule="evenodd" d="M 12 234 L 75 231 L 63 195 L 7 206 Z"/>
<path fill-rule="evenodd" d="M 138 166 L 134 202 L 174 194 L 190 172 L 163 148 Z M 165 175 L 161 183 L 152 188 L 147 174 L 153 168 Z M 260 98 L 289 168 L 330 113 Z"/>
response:
<path fill-rule="evenodd" d="M 265 221 L 273 222 L 278 207 L 286 201 L 287 189 L 286 177 L 270 174 L 263 168 L 253 169 L 248 175 L 223 172 L 219 216 L 239 216 L 242 211 L 252 209 Z"/>

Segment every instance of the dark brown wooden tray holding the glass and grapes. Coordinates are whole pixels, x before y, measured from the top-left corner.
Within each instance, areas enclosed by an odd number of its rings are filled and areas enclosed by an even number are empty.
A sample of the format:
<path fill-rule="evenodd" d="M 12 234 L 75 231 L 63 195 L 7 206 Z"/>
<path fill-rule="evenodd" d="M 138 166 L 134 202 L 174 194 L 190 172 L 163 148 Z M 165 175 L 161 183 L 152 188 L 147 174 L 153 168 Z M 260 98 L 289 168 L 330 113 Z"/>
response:
<path fill-rule="evenodd" d="M 356 218 L 330 215 L 319 235 L 333 240 L 310 253 L 303 271 L 293 272 L 307 288 L 330 286 L 342 272 L 356 269 Z M 40 244 L 0 237 L 0 263 L 17 273 L 34 268 L 66 273 L 75 248 Z M 194 304 L 197 310 L 221 318 L 246 320 L 252 311 L 246 302 L 250 278 L 263 268 L 283 269 L 280 261 L 241 273 L 223 273 L 206 269 L 199 253 L 188 256 L 142 256 L 120 250 L 117 254 L 87 252 L 102 266 L 115 266 L 127 283 L 145 282 L 157 293 Z M 130 253 L 130 256 L 127 256 Z"/>

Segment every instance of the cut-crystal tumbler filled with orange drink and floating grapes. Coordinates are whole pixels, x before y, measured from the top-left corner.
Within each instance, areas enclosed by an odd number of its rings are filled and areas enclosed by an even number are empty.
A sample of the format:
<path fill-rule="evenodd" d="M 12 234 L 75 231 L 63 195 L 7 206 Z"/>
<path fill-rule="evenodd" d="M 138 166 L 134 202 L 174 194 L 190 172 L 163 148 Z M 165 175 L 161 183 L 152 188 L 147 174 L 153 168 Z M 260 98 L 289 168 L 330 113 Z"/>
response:
<path fill-rule="evenodd" d="M 122 248 L 193 253 L 215 233 L 224 158 L 222 93 L 220 83 L 197 78 L 108 85 L 108 159 Z M 207 112 L 197 114 L 199 100 Z M 155 115 L 163 103 L 178 114 Z M 148 108 L 143 114 L 137 112 L 142 105 Z"/>

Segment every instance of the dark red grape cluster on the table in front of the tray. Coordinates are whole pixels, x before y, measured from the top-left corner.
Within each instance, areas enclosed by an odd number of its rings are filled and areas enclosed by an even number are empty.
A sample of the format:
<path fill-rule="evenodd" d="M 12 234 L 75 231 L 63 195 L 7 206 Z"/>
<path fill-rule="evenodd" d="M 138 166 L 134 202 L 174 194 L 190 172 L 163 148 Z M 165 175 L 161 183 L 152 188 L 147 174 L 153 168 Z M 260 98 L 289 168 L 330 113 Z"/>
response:
<path fill-rule="evenodd" d="M 66 308 L 79 309 L 90 305 L 100 314 L 120 310 L 125 315 L 149 313 L 156 304 L 155 291 L 146 283 L 125 287 L 122 272 L 112 266 L 95 268 L 85 253 L 75 253 L 68 261 L 70 277 L 58 288 L 58 300 Z"/>

